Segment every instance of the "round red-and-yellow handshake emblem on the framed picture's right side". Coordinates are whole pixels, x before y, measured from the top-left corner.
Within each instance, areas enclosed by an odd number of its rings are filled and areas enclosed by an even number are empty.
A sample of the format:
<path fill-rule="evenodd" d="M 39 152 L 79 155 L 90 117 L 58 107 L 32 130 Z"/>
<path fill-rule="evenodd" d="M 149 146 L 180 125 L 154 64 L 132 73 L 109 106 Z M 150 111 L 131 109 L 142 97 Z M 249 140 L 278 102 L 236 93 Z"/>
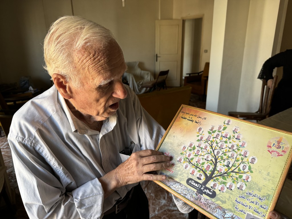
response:
<path fill-rule="evenodd" d="M 267 142 L 267 150 L 272 157 L 283 156 L 289 150 L 288 141 L 283 136 L 271 138 Z"/>

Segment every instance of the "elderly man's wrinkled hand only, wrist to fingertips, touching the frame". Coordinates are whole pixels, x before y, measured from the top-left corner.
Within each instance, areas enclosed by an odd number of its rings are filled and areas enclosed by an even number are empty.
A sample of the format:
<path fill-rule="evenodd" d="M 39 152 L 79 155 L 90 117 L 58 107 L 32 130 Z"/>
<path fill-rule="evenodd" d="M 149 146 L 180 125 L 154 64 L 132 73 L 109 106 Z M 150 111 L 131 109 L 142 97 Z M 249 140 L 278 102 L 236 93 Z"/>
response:
<path fill-rule="evenodd" d="M 165 175 L 154 175 L 149 172 L 170 166 L 170 157 L 155 150 L 137 151 L 115 170 L 120 186 L 138 183 L 142 180 L 165 180 Z"/>

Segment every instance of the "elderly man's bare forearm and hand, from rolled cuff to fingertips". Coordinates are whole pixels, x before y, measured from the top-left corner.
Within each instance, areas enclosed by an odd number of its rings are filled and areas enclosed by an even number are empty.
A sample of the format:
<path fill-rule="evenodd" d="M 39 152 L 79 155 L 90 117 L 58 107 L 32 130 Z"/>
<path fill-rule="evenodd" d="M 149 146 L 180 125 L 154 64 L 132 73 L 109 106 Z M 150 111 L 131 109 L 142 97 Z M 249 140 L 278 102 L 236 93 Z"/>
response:
<path fill-rule="evenodd" d="M 142 180 L 165 180 L 165 175 L 155 175 L 149 172 L 170 166 L 170 157 L 155 150 L 142 150 L 131 156 L 116 169 L 105 174 L 99 181 L 105 192 L 104 198 L 114 190 L 124 185 L 138 183 Z"/>

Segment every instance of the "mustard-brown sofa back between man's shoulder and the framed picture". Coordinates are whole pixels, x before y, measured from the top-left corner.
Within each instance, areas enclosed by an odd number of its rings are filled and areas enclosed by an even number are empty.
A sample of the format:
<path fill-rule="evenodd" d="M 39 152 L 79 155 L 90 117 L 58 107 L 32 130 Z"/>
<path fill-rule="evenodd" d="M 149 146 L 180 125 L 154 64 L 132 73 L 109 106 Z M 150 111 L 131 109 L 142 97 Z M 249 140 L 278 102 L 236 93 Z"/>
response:
<path fill-rule="evenodd" d="M 191 87 L 167 88 L 139 94 L 142 107 L 164 128 L 167 129 L 182 104 L 189 105 Z"/>

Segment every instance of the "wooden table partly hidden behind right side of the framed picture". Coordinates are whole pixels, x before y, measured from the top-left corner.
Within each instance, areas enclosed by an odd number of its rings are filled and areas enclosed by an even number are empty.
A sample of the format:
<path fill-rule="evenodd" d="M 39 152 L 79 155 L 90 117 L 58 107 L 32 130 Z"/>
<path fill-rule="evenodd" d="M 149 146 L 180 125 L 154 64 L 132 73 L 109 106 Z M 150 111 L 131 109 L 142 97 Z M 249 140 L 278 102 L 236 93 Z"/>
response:
<path fill-rule="evenodd" d="M 292 132 L 292 108 L 279 112 L 267 119 L 259 121 L 258 124 L 281 129 L 283 131 Z M 290 145 L 291 147 L 291 145 Z M 275 209 L 292 218 L 292 166 L 289 170 L 288 177 L 285 180 L 283 189 L 278 199 Z"/>

